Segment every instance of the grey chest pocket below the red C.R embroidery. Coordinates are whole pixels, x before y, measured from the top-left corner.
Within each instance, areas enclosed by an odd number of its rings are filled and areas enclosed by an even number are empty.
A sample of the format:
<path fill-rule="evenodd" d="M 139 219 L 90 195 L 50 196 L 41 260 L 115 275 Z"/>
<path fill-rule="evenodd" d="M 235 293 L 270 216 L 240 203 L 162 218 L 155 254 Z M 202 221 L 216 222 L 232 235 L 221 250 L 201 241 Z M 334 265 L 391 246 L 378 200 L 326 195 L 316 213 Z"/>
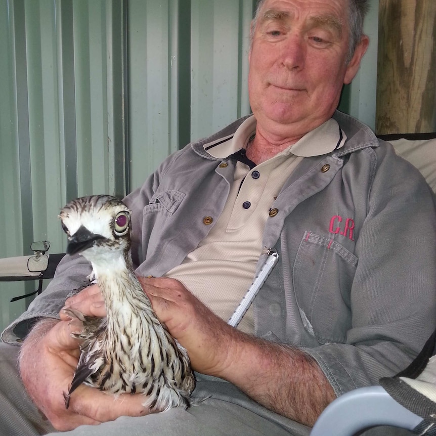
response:
<path fill-rule="evenodd" d="M 357 263 L 353 253 L 332 239 L 306 232 L 301 240 L 292 282 L 304 328 L 320 343 L 345 341 Z"/>

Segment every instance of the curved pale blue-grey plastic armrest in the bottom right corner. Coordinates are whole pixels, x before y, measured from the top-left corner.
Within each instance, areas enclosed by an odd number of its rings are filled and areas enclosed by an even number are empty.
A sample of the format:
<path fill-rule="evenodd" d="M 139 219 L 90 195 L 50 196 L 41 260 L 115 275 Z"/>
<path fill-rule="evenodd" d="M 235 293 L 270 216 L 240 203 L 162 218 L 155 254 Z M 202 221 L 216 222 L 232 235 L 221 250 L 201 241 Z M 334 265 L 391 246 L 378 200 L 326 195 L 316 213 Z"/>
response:
<path fill-rule="evenodd" d="M 381 386 L 362 387 L 333 401 L 318 418 L 311 436 L 352 436 L 376 425 L 412 430 L 421 421 Z"/>

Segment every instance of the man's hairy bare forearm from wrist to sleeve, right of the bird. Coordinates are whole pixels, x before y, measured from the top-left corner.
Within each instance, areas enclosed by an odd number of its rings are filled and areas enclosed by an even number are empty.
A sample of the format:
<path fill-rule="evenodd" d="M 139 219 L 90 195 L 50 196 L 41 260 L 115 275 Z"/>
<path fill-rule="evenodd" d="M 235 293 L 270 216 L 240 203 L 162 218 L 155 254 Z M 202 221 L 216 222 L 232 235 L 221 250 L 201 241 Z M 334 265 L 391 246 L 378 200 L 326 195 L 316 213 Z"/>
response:
<path fill-rule="evenodd" d="M 316 361 L 294 347 L 235 332 L 228 364 L 219 374 L 261 405 L 312 426 L 335 399 Z"/>

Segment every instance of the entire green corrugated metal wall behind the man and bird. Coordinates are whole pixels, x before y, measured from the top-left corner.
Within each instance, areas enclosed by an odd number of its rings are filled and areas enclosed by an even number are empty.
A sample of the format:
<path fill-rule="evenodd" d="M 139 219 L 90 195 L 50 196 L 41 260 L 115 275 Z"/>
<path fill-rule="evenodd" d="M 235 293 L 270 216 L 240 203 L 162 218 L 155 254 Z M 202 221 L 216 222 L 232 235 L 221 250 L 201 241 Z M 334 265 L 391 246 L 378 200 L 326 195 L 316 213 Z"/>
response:
<path fill-rule="evenodd" d="M 67 200 L 122 196 L 169 153 L 250 112 L 253 3 L 0 0 L 0 257 L 42 239 L 64 251 Z M 376 10 L 373 54 L 343 103 L 370 125 Z M 0 282 L 0 328 L 25 309 L 10 298 L 32 287 Z"/>

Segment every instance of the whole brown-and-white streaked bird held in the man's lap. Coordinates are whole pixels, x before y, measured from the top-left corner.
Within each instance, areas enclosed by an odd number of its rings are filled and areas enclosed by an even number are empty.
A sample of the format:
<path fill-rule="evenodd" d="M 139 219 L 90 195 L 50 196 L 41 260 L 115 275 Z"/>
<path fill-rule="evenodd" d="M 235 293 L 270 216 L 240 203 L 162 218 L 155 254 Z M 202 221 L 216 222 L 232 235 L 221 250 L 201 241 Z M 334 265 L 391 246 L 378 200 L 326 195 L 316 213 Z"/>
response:
<path fill-rule="evenodd" d="M 110 394 L 139 393 L 152 411 L 188 407 L 195 379 L 185 348 L 162 325 L 133 272 L 130 210 L 115 197 L 96 195 L 69 202 L 59 215 L 67 253 L 91 261 L 106 304 L 106 318 L 68 314 L 83 323 L 75 336 L 81 356 L 70 395 L 82 382 Z"/>

